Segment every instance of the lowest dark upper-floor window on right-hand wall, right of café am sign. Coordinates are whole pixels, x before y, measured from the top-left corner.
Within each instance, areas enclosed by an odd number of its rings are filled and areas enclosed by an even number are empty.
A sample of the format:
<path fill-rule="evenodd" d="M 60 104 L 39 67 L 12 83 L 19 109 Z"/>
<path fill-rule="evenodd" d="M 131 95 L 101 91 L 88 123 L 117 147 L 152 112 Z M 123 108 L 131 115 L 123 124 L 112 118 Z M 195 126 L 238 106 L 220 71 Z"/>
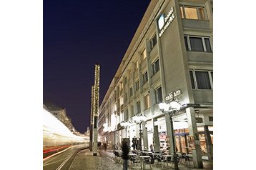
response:
<path fill-rule="evenodd" d="M 192 89 L 212 89 L 213 71 L 189 70 Z"/>

